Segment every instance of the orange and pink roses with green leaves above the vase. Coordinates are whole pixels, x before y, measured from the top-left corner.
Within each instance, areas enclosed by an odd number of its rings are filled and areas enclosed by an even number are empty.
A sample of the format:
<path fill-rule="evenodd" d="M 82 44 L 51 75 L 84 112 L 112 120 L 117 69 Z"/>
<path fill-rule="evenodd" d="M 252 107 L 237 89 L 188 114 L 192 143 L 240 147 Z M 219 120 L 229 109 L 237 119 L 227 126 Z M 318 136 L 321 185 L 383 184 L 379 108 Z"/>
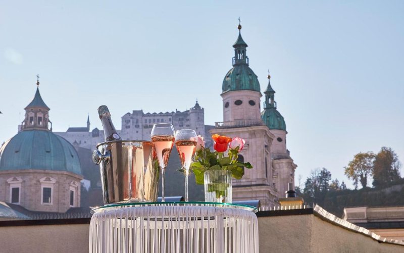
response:
<path fill-rule="evenodd" d="M 195 159 L 190 169 L 195 174 L 196 184 L 204 184 L 204 172 L 207 170 L 228 170 L 235 179 L 241 179 L 244 175 L 244 168 L 252 169 L 250 163 L 237 161 L 238 153 L 243 149 L 245 140 L 241 138 L 230 138 L 212 135 L 214 141 L 211 151 L 205 148 L 204 137 L 198 136 L 196 143 Z M 225 153 L 228 150 L 227 153 Z"/>

